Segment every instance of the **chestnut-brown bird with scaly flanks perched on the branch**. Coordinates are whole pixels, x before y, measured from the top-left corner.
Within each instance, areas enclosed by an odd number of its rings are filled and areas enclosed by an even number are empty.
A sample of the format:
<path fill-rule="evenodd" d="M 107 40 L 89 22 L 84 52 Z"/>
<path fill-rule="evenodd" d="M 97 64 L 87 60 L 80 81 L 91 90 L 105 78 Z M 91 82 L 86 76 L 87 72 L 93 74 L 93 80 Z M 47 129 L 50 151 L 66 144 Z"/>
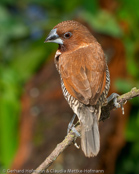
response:
<path fill-rule="evenodd" d="M 94 157 L 100 150 L 99 118 L 110 88 L 106 56 L 89 29 L 74 20 L 57 24 L 45 42 L 58 44 L 54 62 L 62 92 L 79 119 L 82 151 Z"/>

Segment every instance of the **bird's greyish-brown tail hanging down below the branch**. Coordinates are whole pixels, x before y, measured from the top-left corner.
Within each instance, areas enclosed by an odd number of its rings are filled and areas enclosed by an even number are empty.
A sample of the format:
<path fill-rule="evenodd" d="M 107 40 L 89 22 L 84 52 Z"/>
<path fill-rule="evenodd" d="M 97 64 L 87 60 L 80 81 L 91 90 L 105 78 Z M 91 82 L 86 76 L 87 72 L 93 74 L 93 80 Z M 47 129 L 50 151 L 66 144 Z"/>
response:
<path fill-rule="evenodd" d="M 101 108 L 90 111 L 84 107 L 80 112 L 81 121 L 81 147 L 87 157 L 96 156 L 100 149 L 100 136 L 98 128 L 98 119 L 101 114 Z"/>

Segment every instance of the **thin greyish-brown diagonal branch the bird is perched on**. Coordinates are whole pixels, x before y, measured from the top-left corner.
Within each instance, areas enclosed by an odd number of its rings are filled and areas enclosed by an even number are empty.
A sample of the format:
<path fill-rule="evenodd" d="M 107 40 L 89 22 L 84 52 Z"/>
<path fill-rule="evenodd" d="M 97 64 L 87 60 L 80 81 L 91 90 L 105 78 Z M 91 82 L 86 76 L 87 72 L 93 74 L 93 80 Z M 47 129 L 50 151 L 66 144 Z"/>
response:
<path fill-rule="evenodd" d="M 127 100 L 130 100 L 134 97 L 139 96 L 139 89 L 133 88 L 130 92 L 123 94 L 117 98 L 119 104 L 124 104 Z M 109 117 L 109 113 L 115 106 L 111 101 L 106 106 L 102 107 L 102 113 L 100 117 L 100 121 L 104 121 Z M 80 125 L 76 127 L 78 132 L 81 131 Z M 45 173 L 45 170 L 56 160 L 56 158 L 76 139 L 76 135 L 73 132 L 70 132 L 65 139 L 59 143 L 53 152 L 44 160 L 44 162 L 36 169 L 32 174 L 36 173 Z"/>

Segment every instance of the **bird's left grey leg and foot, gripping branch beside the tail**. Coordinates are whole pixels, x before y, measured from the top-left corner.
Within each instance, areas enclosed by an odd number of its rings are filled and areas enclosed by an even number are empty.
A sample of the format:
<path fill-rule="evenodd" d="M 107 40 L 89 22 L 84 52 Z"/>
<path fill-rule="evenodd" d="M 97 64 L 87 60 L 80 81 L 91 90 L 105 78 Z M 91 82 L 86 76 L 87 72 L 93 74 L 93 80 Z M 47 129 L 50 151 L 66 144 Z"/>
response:
<path fill-rule="evenodd" d="M 74 122 L 74 120 L 75 120 L 75 117 L 76 117 L 76 114 L 73 115 L 71 121 L 70 121 L 69 124 L 68 124 L 67 134 L 68 134 L 70 131 L 72 131 L 72 132 L 75 133 L 76 137 L 80 137 L 80 133 L 76 130 L 75 125 L 73 124 L 73 122 Z M 76 140 L 76 139 L 75 139 L 75 140 Z M 75 142 L 75 140 L 74 140 L 74 146 L 75 146 L 77 149 L 79 149 L 80 146 L 77 145 L 77 143 Z"/>

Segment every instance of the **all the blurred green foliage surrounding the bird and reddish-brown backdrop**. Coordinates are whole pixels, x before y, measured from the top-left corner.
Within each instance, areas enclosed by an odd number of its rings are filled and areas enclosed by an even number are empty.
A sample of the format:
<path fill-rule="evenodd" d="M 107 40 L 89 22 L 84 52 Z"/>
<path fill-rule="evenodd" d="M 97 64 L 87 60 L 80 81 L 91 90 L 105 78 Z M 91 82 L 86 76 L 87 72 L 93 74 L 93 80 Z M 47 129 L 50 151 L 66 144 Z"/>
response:
<path fill-rule="evenodd" d="M 116 0 L 116 10 L 100 8 L 98 0 L 0 1 L 0 168 L 9 168 L 18 147 L 21 96 L 24 84 L 37 72 L 57 46 L 43 44 L 57 23 L 82 18 L 96 31 L 120 38 L 126 50 L 131 80 L 119 79 L 122 93 L 139 87 L 139 1 Z M 139 173 L 139 99 L 125 136 L 127 145 L 116 164 L 116 173 Z"/>

